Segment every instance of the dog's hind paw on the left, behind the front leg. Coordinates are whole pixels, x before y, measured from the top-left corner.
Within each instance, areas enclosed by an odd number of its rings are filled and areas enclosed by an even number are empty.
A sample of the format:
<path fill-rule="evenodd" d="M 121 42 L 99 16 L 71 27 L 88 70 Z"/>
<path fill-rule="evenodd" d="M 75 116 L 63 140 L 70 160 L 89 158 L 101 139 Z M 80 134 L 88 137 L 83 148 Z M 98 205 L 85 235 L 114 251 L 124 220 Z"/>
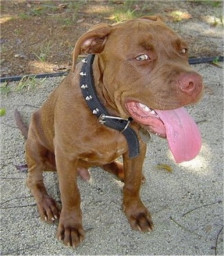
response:
<path fill-rule="evenodd" d="M 59 219 L 59 208 L 57 207 L 56 201 L 50 196 L 43 196 L 41 201 L 37 202 L 37 208 L 42 220 L 52 223 L 56 219 Z"/>

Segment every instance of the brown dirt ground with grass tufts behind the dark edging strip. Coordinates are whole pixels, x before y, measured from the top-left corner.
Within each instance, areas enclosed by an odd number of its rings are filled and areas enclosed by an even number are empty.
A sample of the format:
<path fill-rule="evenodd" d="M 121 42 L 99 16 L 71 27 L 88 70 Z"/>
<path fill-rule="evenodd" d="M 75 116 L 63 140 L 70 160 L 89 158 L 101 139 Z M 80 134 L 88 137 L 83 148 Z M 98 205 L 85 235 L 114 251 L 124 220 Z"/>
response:
<path fill-rule="evenodd" d="M 74 43 L 91 26 L 152 14 L 186 39 L 190 57 L 223 55 L 223 1 L 7 0 L 1 1 L 1 77 L 69 70 Z"/>

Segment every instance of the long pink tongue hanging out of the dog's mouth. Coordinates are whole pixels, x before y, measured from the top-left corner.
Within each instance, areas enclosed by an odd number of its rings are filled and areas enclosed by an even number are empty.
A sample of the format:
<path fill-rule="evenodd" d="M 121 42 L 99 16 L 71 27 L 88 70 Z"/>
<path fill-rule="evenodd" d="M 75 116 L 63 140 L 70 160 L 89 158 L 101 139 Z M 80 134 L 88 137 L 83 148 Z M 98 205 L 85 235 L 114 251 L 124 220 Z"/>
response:
<path fill-rule="evenodd" d="M 165 125 L 166 137 L 176 163 L 189 161 L 201 149 L 198 126 L 184 108 L 155 110 Z"/>

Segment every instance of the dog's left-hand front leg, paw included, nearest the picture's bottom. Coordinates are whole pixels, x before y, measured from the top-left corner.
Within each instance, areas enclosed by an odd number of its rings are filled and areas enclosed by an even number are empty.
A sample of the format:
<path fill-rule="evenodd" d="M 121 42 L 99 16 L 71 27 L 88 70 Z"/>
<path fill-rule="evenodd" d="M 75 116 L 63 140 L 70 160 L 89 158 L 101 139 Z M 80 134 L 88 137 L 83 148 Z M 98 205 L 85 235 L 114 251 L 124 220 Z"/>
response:
<path fill-rule="evenodd" d="M 69 159 L 61 149 L 55 150 L 62 209 L 57 237 L 67 246 L 77 247 L 84 239 L 81 199 L 77 186 L 77 159 Z"/>

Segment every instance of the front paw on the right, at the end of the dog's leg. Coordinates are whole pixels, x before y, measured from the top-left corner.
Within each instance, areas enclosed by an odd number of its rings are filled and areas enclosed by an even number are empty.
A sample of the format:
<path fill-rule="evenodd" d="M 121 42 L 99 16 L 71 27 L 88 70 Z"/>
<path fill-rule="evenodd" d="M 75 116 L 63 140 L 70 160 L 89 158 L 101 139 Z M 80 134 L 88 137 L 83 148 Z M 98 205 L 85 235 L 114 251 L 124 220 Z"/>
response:
<path fill-rule="evenodd" d="M 145 206 L 135 210 L 133 210 L 133 208 L 132 210 L 128 210 L 124 207 L 124 212 L 128 217 L 128 221 L 130 222 L 132 229 L 142 232 L 149 232 L 154 229 L 150 212 L 145 208 Z"/>

